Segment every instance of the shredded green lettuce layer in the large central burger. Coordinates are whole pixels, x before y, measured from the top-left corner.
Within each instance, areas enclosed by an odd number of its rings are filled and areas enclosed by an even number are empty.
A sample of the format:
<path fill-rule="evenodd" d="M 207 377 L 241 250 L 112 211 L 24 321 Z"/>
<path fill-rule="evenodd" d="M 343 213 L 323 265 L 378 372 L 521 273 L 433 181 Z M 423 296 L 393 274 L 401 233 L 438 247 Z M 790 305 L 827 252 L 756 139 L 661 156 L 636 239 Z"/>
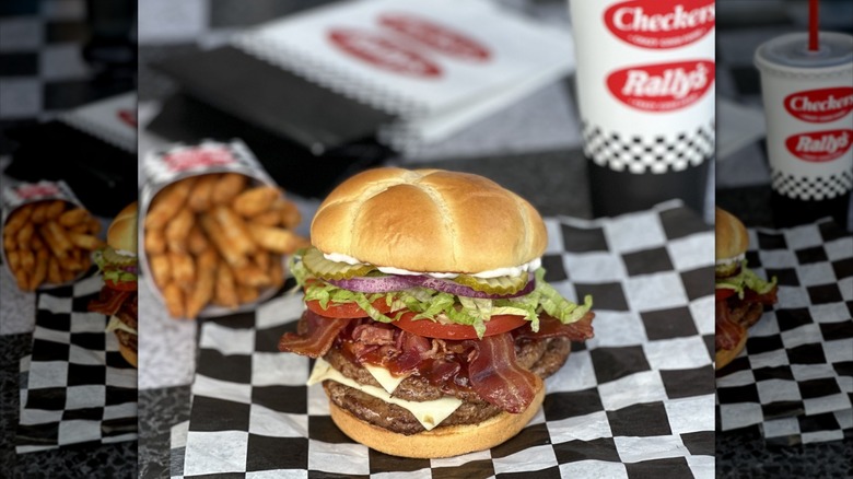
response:
<path fill-rule="evenodd" d="M 539 268 L 536 276 L 536 288 L 523 296 L 489 300 L 456 296 L 429 288 L 413 287 L 402 291 L 388 293 L 361 293 L 344 290 L 325 281 L 318 280 L 305 268 L 301 255 L 291 258 L 290 271 L 296 282 L 305 290 L 305 301 L 318 301 L 322 308 L 330 304 L 355 303 L 367 315 L 381 323 L 397 320 L 406 311 L 417 313 L 413 320 L 429 319 L 433 322 L 449 322 L 472 326 L 477 336 L 482 338 L 486 332 L 486 322 L 492 316 L 524 316 L 530 322 L 534 331 L 539 330 L 539 313 L 559 319 L 563 324 L 580 320 L 593 306 L 589 295 L 583 304 L 564 299 L 552 285 L 545 281 L 545 270 Z M 398 312 L 394 317 L 379 313 L 373 303 L 384 300 L 390 311 Z"/>

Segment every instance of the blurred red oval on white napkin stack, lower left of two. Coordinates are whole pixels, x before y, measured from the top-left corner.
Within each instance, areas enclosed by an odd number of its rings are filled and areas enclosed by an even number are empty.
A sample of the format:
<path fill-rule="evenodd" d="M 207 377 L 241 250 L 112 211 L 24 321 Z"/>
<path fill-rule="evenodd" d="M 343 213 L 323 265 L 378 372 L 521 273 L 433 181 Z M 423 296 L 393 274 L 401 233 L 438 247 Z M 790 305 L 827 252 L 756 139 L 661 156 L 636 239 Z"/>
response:
<path fill-rule="evenodd" d="M 422 79 L 434 79 L 442 74 L 441 67 L 429 58 L 383 35 L 332 28 L 328 37 L 342 51 L 383 70 Z"/>

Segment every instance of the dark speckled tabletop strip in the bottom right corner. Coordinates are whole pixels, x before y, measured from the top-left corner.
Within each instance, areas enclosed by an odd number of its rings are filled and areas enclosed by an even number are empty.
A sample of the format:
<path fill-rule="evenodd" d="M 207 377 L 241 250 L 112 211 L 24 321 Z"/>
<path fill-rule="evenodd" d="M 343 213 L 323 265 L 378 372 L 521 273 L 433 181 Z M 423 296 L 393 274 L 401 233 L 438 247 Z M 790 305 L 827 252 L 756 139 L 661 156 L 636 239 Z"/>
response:
<path fill-rule="evenodd" d="M 853 477 L 853 436 L 798 446 L 769 446 L 757 431 L 716 433 L 716 477 L 826 478 Z"/>

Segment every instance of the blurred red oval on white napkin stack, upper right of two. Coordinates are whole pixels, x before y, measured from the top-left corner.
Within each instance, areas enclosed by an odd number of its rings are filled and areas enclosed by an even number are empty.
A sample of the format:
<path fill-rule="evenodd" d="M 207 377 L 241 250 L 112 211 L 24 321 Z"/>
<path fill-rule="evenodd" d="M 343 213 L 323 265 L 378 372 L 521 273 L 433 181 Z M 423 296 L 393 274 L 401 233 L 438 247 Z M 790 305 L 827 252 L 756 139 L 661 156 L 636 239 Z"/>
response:
<path fill-rule="evenodd" d="M 448 57 L 483 62 L 491 56 L 489 49 L 479 42 L 426 19 L 406 13 L 387 13 L 381 15 L 378 22 L 379 25 Z"/>

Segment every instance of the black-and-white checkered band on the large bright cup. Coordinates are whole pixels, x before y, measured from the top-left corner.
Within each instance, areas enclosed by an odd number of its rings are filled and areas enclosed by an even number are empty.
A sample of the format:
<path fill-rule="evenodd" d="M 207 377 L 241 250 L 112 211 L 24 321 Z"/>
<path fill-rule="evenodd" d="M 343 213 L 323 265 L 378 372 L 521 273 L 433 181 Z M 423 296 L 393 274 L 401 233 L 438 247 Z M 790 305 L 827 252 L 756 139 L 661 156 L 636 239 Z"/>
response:
<path fill-rule="evenodd" d="M 635 174 L 680 172 L 698 166 L 714 153 L 713 122 L 696 131 L 667 136 L 605 132 L 583 124 L 584 153 L 596 164 Z"/>

